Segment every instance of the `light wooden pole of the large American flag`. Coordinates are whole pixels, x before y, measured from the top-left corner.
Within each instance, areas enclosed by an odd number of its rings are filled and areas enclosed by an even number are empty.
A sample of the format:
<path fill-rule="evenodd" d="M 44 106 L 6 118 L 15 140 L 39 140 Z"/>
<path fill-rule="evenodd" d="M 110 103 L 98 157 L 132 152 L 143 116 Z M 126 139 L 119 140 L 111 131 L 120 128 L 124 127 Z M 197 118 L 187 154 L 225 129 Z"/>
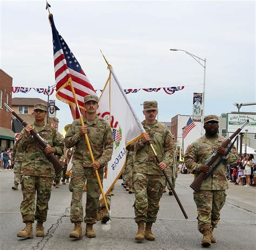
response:
<path fill-rule="evenodd" d="M 77 107 L 77 110 L 78 110 L 78 113 L 79 113 L 80 122 L 81 122 L 81 124 L 82 124 L 82 127 L 84 127 L 83 115 L 82 115 L 82 113 L 80 112 L 80 108 L 79 108 L 79 105 L 78 105 L 78 102 L 77 102 L 76 92 L 75 92 L 75 89 L 74 89 L 74 87 L 73 87 L 73 82 L 72 82 L 72 79 L 71 79 L 71 78 L 69 79 L 69 85 L 70 85 L 70 87 L 71 87 L 71 91 L 72 91 L 72 94 L 73 94 L 73 98 L 74 98 L 74 101 L 75 101 L 75 104 L 76 104 L 76 107 Z M 87 135 L 87 134 L 84 134 L 84 137 L 85 137 L 85 141 L 86 141 L 88 150 L 89 150 L 89 152 L 90 152 L 90 156 L 91 156 L 92 163 L 95 163 L 95 159 L 94 159 L 94 156 L 93 156 L 93 154 L 92 154 L 92 149 L 91 149 L 91 145 L 90 145 L 90 141 L 89 141 L 88 135 Z M 107 213 L 109 214 L 109 218 L 110 218 L 110 220 L 111 220 L 110 211 L 109 211 L 109 206 L 107 205 L 106 197 L 104 196 L 104 191 L 103 191 L 103 188 L 102 188 L 102 182 L 100 182 L 99 173 L 98 173 L 98 170 L 97 170 L 97 169 L 95 170 L 95 173 L 96 173 L 96 177 L 97 177 L 97 180 L 98 180 L 99 189 L 100 189 L 100 192 L 102 193 L 102 197 L 103 197 L 103 200 L 104 200 L 104 204 L 105 204 L 105 206 L 106 206 Z"/>

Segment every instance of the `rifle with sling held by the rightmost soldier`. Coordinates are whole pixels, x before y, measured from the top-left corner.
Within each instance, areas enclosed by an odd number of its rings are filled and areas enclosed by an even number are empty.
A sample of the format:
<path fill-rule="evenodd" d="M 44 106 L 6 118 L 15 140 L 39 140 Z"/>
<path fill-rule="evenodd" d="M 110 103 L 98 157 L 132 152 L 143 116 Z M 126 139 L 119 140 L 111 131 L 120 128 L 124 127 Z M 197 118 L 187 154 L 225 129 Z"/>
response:
<path fill-rule="evenodd" d="M 240 133 L 240 131 L 246 126 L 246 124 L 249 122 L 247 120 L 242 124 L 240 128 L 234 131 L 234 133 L 225 140 L 220 147 L 226 148 L 227 145 L 233 140 L 233 138 Z M 219 153 L 217 151 L 214 151 L 210 158 L 208 158 L 205 162 L 205 165 L 211 166 L 217 159 L 219 158 Z M 212 173 L 212 172 L 211 172 Z M 206 179 L 207 173 L 200 172 L 199 176 L 194 179 L 194 181 L 191 183 L 190 188 L 192 188 L 194 191 L 198 192 L 200 190 L 202 182 Z"/>

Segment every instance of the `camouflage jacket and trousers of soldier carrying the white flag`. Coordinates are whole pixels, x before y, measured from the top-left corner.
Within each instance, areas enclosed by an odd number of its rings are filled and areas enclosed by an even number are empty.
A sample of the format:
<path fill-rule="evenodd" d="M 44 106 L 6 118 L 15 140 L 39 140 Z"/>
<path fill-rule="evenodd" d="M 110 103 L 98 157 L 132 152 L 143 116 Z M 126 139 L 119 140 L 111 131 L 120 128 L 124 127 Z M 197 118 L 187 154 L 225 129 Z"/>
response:
<path fill-rule="evenodd" d="M 151 128 L 145 121 L 142 124 L 150 135 L 160 162 L 169 165 L 174 148 L 169 128 L 158 121 L 152 124 Z M 163 195 L 165 177 L 163 171 L 158 168 L 156 157 L 149 144 L 144 143 L 142 138 L 136 142 L 134 150 L 136 151 L 133 166 L 135 222 L 154 223 L 157 219 L 159 201 Z"/>

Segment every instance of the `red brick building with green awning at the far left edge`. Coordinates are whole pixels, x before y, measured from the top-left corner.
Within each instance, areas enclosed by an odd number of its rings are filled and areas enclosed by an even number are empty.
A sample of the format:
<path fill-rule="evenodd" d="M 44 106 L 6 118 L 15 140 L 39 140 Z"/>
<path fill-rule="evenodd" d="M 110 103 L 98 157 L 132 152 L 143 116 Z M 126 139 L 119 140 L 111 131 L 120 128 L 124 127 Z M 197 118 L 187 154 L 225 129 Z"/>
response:
<path fill-rule="evenodd" d="M 4 103 L 11 107 L 12 77 L 0 69 L 0 148 L 12 147 L 14 132 L 11 130 L 11 113 L 6 110 Z"/>

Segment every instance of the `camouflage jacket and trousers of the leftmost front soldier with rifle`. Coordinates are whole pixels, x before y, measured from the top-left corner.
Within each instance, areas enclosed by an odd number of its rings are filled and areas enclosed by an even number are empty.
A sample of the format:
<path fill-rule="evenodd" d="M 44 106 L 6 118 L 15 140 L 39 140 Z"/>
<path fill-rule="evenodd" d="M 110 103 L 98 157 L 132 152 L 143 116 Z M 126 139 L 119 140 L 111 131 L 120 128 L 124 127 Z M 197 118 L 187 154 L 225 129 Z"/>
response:
<path fill-rule="evenodd" d="M 64 145 L 62 138 L 55 128 L 49 124 L 44 126 L 32 124 L 32 126 L 53 147 L 53 154 L 63 154 Z M 47 217 L 48 202 L 51 196 L 51 183 L 52 178 L 55 176 L 55 170 L 42 150 L 39 149 L 33 137 L 31 135 L 27 136 L 24 129 L 19 137 L 17 149 L 19 152 L 24 152 L 24 160 L 21 167 L 23 193 L 21 213 L 23 222 L 31 221 L 33 223 L 34 220 L 44 222 Z M 36 211 L 35 195 L 37 196 Z"/>

